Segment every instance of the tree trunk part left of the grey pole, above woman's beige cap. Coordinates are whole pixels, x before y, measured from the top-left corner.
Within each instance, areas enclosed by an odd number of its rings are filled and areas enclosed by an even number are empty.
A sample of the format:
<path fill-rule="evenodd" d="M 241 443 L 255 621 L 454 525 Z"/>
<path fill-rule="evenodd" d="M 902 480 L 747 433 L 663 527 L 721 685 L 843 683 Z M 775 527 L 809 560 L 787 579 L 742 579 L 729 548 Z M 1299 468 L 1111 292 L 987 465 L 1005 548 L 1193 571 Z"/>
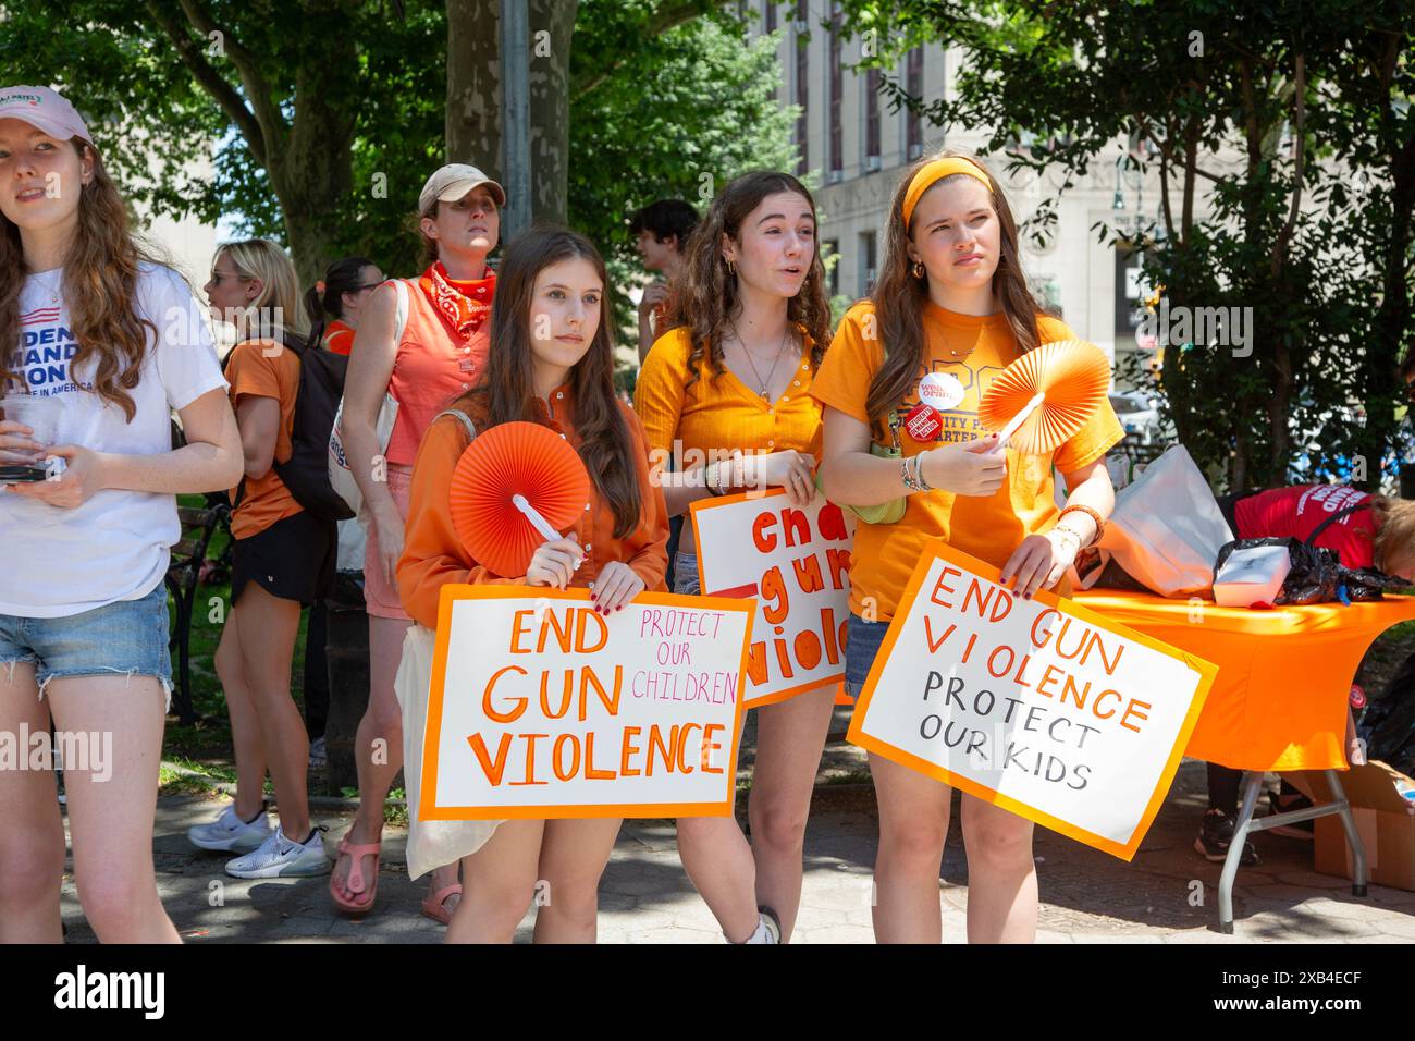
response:
<path fill-rule="evenodd" d="M 499 0 L 447 0 L 447 161 L 505 181 L 499 25 Z"/>

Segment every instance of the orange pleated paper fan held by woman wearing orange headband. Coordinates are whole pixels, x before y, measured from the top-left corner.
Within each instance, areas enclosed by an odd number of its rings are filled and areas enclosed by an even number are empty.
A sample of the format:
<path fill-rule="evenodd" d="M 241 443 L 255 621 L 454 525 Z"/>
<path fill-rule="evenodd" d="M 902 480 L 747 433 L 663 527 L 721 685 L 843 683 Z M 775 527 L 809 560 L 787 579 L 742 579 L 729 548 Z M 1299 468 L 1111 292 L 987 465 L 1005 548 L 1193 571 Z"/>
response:
<path fill-rule="evenodd" d="M 1095 344 L 1054 340 L 1007 365 L 978 402 L 978 421 L 999 431 L 998 448 L 1044 456 L 1085 426 L 1105 401 L 1111 363 Z"/>

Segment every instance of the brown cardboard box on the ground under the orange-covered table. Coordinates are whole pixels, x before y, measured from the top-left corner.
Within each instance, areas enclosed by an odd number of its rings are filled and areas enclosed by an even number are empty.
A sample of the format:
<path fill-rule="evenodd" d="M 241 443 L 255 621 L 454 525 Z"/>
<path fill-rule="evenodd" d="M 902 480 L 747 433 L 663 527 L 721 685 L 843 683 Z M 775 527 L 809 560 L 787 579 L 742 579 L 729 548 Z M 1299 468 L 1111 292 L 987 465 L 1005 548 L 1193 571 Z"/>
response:
<path fill-rule="evenodd" d="M 1332 789 L 1320 770 L 1285 775 L 1316 803 L 1332 802 Z M 1382 762 L 1353 766 L 1340 773 L 1341 789 L 1351 803 L 1356 830 L 1365 846 L 1371 881 L 1397 889 L 1415 891 L 1415 804 L 1395 790 L 1397 782 L 1415 785 Z M 1337 816 L 1312 821 L 1316 830 L 1313 870 L 1323 875 L 1351 877 L 1351 848 Z"/>

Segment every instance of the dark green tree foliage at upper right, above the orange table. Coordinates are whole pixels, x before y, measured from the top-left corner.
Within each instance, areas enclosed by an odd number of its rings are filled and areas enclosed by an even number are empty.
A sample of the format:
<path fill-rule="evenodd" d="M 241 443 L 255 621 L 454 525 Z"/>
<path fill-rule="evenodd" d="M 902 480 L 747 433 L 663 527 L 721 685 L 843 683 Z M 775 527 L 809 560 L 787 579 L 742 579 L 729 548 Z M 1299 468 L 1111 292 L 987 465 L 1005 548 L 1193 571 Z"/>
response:
<path fill-rule="evenodd" d="M 925 106 L 890 81 L 893 96 L 945 133 L 990 127 L 1009 170 L 1060 170 L 1064 191 L 1092 166 L 1108 174 L 1122 142 L 1128 163 L 1157 171 L 1165 205 L 1125 229 L 1148 278 L 1170 309 L 1254 316 L 1251 354 L 1214 336 L 1165 351 L 1172 418 L 1211 474 L 1262 487 L 1306 459 L 1317 476 L 1380 483 L 1415 324 L 1409 3 L 846 7 L 886 68 L 920 40 L 959 48 L 947 99 Z M 1049 232 L 1054 204 L 1032 234 Z"/>

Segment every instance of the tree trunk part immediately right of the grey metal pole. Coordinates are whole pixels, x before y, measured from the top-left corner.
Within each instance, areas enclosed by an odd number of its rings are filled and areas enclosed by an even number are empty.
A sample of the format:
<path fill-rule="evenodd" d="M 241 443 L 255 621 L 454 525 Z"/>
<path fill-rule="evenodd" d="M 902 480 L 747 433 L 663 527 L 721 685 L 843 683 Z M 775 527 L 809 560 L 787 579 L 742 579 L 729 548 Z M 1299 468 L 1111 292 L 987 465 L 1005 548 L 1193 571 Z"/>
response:
<path fill-rule="evenodd" d="M 531 0 L 531 215 L 566 222 L 570 45 L 577 0 Z"/>

